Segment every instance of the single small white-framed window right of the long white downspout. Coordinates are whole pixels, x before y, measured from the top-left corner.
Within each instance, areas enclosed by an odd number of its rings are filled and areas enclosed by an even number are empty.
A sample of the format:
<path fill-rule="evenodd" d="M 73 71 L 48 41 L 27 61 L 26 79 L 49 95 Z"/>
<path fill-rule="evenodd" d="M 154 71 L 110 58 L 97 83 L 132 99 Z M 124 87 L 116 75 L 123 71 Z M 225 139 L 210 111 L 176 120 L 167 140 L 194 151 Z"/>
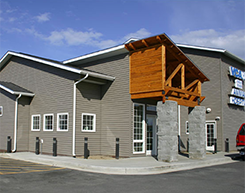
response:
<path fill-rule="evenodd" d="M 95 114 L 82 114 L 82 131 L 95 132 L 96 115 Z"/>

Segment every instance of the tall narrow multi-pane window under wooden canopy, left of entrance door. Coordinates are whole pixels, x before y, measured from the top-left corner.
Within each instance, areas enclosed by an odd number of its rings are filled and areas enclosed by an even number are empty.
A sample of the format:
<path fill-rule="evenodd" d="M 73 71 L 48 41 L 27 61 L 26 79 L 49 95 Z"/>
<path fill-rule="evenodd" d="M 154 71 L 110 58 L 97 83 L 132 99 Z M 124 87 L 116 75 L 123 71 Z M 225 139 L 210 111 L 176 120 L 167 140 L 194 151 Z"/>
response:
<path fill-rule="evenodd" d="M 145 152 L 145 105 L 134 104 L 133 152 Z"/>

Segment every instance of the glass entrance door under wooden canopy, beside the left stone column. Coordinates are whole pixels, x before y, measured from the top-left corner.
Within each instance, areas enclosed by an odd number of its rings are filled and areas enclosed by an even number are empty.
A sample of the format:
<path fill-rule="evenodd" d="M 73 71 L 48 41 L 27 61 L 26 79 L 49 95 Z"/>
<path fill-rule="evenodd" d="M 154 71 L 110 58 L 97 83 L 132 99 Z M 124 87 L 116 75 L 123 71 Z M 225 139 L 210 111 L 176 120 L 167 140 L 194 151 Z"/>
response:
<path fill-rule="evenodd" d="M 157 155 L 156 116 L 147 115 L 147 155 Z"/>

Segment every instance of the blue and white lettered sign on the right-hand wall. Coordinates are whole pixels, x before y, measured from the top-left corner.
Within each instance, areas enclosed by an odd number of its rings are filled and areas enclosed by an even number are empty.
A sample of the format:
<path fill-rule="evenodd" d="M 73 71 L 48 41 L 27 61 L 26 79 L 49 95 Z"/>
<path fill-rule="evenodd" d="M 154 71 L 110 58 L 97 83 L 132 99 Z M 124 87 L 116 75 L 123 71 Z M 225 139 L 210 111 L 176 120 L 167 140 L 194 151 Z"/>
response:
<path fill-rule="evenodd" d="M 229 67 L 230 76 L 235 77 L 234 87 L 231 90 L 230 104 L 245 106 L 245 92 L 243 89 L 243 80 L 245 80 L 245 72 L 238 70 L 232 66 Z"/>

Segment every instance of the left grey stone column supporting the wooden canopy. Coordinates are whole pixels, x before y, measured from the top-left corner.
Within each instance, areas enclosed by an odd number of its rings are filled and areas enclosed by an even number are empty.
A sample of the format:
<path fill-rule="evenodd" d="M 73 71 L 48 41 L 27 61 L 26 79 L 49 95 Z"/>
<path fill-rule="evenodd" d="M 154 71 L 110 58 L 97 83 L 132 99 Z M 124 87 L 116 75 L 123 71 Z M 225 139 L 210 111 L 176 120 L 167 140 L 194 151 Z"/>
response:
<path fill-rule="evenodd" d="M 177 102 L 157 103 L 158 161 L 178 161 Z"/>

